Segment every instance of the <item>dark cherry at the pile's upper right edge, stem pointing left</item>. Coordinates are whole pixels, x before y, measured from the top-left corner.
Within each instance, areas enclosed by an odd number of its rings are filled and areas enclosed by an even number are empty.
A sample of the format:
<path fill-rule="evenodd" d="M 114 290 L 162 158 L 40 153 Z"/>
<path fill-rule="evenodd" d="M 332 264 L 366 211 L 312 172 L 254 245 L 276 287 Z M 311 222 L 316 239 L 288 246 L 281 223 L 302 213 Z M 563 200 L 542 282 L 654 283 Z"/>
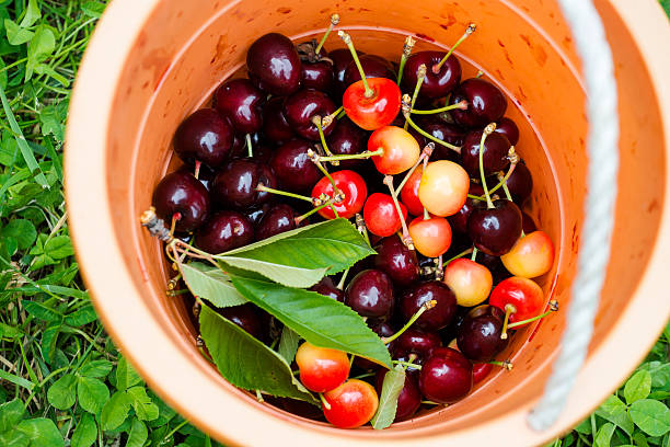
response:
<path fill-rule="evenodd" d="M 486 126 L 500 119 L 507 110 L 507 99 L 503 92 L 481 78 L 471 78 L 461 82 L 451 93 L 449 104 L 463 100 L 467 101 L 466 110 L 451 111 L 451 116 L 461 126 Z"/>

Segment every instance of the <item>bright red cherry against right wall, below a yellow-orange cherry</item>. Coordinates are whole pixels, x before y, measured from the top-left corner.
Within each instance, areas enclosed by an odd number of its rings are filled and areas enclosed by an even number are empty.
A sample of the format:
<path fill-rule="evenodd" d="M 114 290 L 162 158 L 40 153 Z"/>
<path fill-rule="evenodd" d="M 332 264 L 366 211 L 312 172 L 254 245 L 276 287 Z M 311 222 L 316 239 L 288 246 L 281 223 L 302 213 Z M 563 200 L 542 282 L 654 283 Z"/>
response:
<path fill-rule="evenodd" d="M 544 294 L 532 279 L 512 276 L 498 284 L 493 291 L 488 302 L 505 310 L 507 305 L 513 306 L 509 322 L 528 320 L 542 312 L 544 307 Z"/>

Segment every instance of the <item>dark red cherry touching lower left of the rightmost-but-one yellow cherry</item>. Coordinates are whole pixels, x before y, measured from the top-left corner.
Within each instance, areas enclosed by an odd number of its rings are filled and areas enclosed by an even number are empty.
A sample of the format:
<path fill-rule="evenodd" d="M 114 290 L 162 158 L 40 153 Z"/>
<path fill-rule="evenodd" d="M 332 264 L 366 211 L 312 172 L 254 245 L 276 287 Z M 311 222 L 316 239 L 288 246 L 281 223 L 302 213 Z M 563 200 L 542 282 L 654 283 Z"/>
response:
<path fill-rule="evenodd" d="M 437 331 L 447 326 L 457 311 L 457 299 L 444 283 L 430 280 L 417 284 L 401 296 L 400 310 L 409 320 L 426 302 L 435 300 L 435 307 L 425 311 L 414 323 L 426 331 Z"/>

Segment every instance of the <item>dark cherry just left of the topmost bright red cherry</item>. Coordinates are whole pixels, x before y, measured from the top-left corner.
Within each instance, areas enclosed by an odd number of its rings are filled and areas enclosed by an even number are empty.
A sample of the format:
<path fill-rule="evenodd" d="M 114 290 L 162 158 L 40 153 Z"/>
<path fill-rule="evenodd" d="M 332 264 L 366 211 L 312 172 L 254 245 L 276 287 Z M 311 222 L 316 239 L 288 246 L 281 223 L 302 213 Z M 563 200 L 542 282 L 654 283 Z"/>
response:
<path fill-rule="evenodd" d="M 284 103 L 284 114 L 291 128 L 299 136 L 319 140 L 319 128 L 312 118 L 314 116 L 325 117 L 335 112 L 335 103 L 323 92 L 314 89 L 302 89 L 290 95 Z M 331 124 L 323 128 L 324 135 L 331 135 L 335 125 Z"/>

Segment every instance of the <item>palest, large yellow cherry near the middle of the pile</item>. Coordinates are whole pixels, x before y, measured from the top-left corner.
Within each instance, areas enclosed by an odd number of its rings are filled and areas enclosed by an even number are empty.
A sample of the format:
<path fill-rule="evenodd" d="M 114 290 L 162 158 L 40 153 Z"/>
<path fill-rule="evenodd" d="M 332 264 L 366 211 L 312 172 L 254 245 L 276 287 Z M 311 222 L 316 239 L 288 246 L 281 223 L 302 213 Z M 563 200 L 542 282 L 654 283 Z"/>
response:
<path fill-rule="evenodd" d="M 451 216 L 465 204 L 470 176 L 465 170 L 449 160 L 428 163 L 419 183 L 418 197 L 428 213 Z"/>

